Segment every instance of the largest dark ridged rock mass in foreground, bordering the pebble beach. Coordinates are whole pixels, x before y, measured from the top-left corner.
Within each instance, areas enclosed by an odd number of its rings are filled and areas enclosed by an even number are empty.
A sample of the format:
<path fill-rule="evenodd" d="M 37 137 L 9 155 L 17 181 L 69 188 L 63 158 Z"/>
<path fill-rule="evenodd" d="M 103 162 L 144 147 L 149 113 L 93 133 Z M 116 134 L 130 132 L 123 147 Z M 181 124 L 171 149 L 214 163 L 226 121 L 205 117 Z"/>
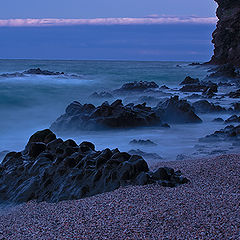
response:
<path fill-rule="evenodd" d="M 0 201 L 58 202 L 129 184 L 175 187 L 187 182 L 171 168 L 150 172 L 141 156 L 118 149 L 96 151 L 90 142 L 63 141 L 46 129 L 32 135 L 24 151 L 8 153 L 0 164 Z"/>

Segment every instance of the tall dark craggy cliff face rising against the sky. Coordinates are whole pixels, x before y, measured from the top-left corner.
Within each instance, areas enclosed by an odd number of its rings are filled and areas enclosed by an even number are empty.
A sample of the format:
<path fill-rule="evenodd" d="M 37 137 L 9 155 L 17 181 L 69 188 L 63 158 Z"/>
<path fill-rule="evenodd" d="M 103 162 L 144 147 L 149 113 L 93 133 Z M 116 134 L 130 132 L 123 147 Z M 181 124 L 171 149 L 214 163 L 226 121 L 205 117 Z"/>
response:
<path fill-rule="evenodd" d="M 214 55 L 209 63 L 232 63 L 240 67 L 240 0 L 214 0 L 218 3 L 217 28 L 213 32 Z"/>

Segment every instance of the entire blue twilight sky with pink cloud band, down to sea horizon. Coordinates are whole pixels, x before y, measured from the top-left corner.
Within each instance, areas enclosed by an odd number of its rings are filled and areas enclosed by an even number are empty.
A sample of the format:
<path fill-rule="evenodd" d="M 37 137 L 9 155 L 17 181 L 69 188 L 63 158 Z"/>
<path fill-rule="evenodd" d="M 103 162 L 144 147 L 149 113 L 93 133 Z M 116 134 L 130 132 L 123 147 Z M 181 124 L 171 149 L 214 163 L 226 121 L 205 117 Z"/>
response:
<path fill-rule="evenodd" d="M 207 61 L 213 0 L 1 1 L 0 58 Z"/>

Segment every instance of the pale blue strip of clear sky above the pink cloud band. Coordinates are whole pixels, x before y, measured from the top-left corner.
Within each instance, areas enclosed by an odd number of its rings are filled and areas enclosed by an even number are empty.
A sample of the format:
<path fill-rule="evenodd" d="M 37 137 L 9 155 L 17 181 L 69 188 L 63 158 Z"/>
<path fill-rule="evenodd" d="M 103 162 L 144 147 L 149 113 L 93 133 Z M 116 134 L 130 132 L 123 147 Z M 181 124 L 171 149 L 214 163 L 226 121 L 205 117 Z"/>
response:
<path fill-rule="evenodd" d="M 145 17 L 152 14 L 214 17 L 213 0 L 2 0 L 1 19 Z"/>

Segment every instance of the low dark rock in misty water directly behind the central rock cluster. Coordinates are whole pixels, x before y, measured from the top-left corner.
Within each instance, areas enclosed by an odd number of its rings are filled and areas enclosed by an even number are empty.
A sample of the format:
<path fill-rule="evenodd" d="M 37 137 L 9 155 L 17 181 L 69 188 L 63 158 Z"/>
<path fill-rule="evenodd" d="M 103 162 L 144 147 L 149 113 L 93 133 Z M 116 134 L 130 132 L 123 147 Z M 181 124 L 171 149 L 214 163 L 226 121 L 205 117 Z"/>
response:
<path fill-rule="evenodd" d="M 121 88 L 114 90 L 114 92 L 144 91 L 147 89 L 158 88 L 158 87 L 159 86 L 155 82 L 135 81 L 135 82 L 123 84 Z"/>

